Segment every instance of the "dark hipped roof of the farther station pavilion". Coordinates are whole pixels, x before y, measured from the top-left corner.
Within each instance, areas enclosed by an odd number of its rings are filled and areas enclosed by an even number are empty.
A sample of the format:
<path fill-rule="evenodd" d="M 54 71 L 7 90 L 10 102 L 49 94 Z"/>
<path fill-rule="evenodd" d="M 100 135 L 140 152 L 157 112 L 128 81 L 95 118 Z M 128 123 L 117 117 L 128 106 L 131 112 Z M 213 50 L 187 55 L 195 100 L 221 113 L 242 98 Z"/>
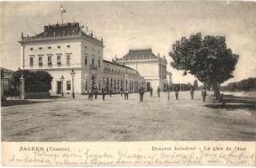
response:
<path fill-rule="evenodd" d="M 157 59 L 152 53 L 152 49 L 129 50 L 129 53 L 123 56 L 123 60 L 149 60 Z"/>

